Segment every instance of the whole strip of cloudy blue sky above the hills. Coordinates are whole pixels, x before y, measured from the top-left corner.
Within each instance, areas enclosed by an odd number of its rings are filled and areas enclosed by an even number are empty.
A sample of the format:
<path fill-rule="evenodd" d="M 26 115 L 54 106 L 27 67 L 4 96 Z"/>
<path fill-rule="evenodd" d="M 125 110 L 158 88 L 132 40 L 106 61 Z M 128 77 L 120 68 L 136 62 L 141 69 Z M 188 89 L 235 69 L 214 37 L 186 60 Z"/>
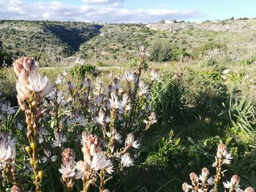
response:
<path fill-rule="evenodd" d="M 0 0 L 0 19 L 97 23 L 256 18 L 255 0 Z"/>

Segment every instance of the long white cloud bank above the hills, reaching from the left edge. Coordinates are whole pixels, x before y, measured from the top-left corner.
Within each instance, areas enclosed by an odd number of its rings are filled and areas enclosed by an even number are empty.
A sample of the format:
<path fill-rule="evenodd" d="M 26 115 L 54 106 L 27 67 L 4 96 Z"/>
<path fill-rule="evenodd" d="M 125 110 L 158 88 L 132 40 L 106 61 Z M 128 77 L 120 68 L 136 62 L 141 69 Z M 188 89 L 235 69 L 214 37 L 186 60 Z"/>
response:
<path fill-rule="evenodd" d="M 175 9 L 124 9 L 115 7 L 117 0 L 83 0 L 110 6 L 94 4 L 75 6 L 61 1 L 25 3 L 18 0 L 0 0 L 0 19 L 18 20 L 70 20 L 104 23 L 155 23 L 161 19 L 192 19 L 205 17 L 196 10 Z"/>

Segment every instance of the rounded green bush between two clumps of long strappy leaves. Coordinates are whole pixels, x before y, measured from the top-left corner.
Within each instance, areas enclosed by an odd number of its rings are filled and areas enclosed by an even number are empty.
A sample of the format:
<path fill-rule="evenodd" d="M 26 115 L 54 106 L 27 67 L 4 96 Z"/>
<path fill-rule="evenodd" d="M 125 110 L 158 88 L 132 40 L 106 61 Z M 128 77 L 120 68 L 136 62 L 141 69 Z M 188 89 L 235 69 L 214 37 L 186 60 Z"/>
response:
<path fill-rule="evenodd" d="M 198 120 L 217 117 L 222 112 L 222 103 L 227 102 L 227 86 L 217 80 L 218 76 L 197 72 L 184 75 L 188 110 Z"/>

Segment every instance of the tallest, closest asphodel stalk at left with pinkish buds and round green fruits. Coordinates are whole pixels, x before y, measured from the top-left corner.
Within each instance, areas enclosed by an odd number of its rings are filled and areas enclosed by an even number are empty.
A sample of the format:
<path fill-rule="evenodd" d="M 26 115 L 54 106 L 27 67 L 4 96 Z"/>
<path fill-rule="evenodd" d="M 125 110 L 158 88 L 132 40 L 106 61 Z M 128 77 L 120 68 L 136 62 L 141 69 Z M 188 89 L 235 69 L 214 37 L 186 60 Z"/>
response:
<path fill-rule="evenodd" d="M 37 154 L 37 128 L 39 117 L 44 110 L 40 107 L 42 98 L 48 95 L 52 85 L 47 77 L 42 77 L 36 72 L 36 61 L 34 58 L 19 58 L 14 64 L 15 74 L 18 76 L 16 89 L 20 109 L 25 112 L 29 146 L 26 152 L 29 154 L 29 162 L 34 172 L 34 185 L 36 191 L 41 191 L 41 180 L 43 171 L 39 169 L 39 156 Z"/>

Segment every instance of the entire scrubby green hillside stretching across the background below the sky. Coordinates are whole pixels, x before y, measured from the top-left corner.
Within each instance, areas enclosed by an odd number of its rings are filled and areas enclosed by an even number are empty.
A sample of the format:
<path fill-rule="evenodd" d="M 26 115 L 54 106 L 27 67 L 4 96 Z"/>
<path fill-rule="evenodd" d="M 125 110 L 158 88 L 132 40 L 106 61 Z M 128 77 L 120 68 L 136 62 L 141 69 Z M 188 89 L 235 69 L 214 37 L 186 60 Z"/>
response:
<path fill-rule="evenodd" d="M 206 43 L 222 43 L 228 57 L 240 61 L 255 55 L 255 28 L 253 19 L 148 25 L 1 20 L 0 42 L 12 56 L 31 55 L 43 66 L 70 65 L 65 58 L 76 55 L 122 65 L 135 57 L 140 44 L 151 50 L 161 42 L 190 54 Z"/>

